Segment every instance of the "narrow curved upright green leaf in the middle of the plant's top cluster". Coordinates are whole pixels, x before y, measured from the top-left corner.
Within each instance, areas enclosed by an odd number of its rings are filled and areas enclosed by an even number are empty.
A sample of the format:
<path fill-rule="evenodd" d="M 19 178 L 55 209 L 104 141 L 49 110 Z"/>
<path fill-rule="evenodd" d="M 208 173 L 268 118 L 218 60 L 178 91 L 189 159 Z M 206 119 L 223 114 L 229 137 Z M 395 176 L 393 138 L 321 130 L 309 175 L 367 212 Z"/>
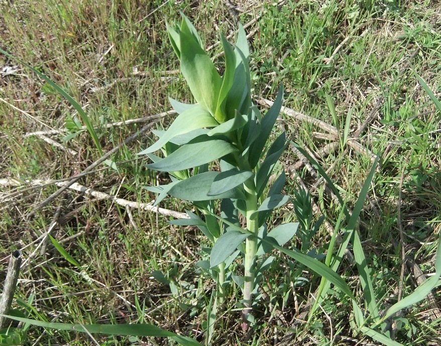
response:
<path fill-rule="evenodd" d="M 220 34 L 220 42 L 224 47 L 225 52 L 225 73 L 222 77 L 222 85 L 220 86 L 219 97 L 217 99 L 216 119 L 233 119 L 236 115 L 236 111 L 232 113 L 226 113 L 225 111 L 225 99 L 231 90 L 234 80 L 234 74 L 236 69 L 236 56 L 231 44 L 227 41 L 224 35 Z"/>

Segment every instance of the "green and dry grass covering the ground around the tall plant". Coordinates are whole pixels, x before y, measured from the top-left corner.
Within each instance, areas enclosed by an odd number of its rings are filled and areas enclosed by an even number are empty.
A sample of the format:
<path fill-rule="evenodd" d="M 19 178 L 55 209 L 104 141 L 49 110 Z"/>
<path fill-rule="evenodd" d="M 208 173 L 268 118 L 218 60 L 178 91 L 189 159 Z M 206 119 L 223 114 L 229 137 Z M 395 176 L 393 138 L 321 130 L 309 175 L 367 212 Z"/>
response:
<path fill-rule="evenodd" d="M 79 102 L 105 153 L 144 126 L 106 128 L 106 124 L 168 110 L 171 107 L 167 96 L 191 101 L 180 74 L 171 75 L 166 81 L 161 79 L 164 72 L 179 68 L 166 37 L 165 22 L 175 22 L 178 11 L 184 11 L 201 33 L 205 46 L 210 46 L 217 42 L 217 28 L 226 35 L 237 28 L 234 10 L 220 2 L 214 3 L 215 6 L 203 2 L 196 6 L 188 1 L 178 5 L 168 2 L 157 11 L 163 2 L 1 3 L 0 48 L 45 74 Z M 359 137 L 359 142 L 381 155 L 382 160 L 357 229 L 371 270 L 373 290 L 380 301 L 378 308 L 383 311 L 388 304 L 396 302 L 401 283 L 403 296 L 416 287 L 412 273 L 405 271 L 401 277 L 400 245 L 395 247 L 392 242 L 392 239 L 400 242 L 399 222 L 406 255 L 426 275 L 434 271 L 433 256 L 441 222 L 440 110 L 414 71 L 439 99 L 441 36 L 437 10 L 430 2 L 398 1 L 361 5 L 329 0 L 318 5 L 288 0 L 280 9 L 269 3 L 238 2 L 238 5 L 245 10 L 245 13 L 237 12 L 242 23 L 260 16 L 247 29 L 247 32 L 258 29 L 250 38 L 255 95 L 274 99 L 277 90 L 273 85 L 283 84 L 287 107 L 333 126 L 338 123 L 340 129 L 345 128 L 347 114 L 352 112 L 350 136 L 354 136 L 380 100 L 372 120 Z M 328 63 L 327 59 L 345 39 Z M 212 50 L 213 55 L 219 52 L 219 47 Z M 5 100 L 0 101 L 0 179 L 67 178 L 99 159 L 99 150 L 87 132 L 67 142 L 62 141 L 65 134 L 49 136 L 77 151 L 78 156 L 71 156 L 36 136 L 25 137 L 34 131 L 63 129 L 63 124 L 70 118 L 78 118 L 78 114 L 43 79 L 0 55 L 0 68 L 6 66 L 16 66 L 18 71 L 0 77 L 0 97 Z M 222 59 L 217 66 L 223 68 Z M 135 69 L 149 74 L 136 75 Z M 329 100 L 335 105 L 334 117 Z M 317 138 L 316 132 L 323 133 L 318 128 L 294 122 L 284 115 L 281 118 L 281 128 L 295 134 L 294 141 L 301 147 L 314 153 L 328 143 Z M 168 121 L 166 118 L 162 125 L 166 127 Z M 153 140 L 151 134 L 144 135 L 116 153 L 111 159 L 117 163 L 119 173 L 105 169 L 79 182 L 127 200 L 150 202 L 154 195 L 141 186 L 168 179 L 146 170 L 144 165 L 148 161 L 136 156 Z M 286 169 L 297 160 L 287 150 L 282 165 Z M 325 171 L 330 168 L 329 177 L 348 207 L 354 208 L 372 165 L 370 159 L 339 143 L 335 152 L 317 160 Z M 315 184 L 316 179 L 305 167 L 298 174 L 308 188 Z M 284 192 L 293 195 L 295 186 L 295 177 L 288 178 Z M 0 189 L 2 198 L 17 188 L 0 186 Z M 25 259 L 28 258 L 39 246 L 40 241 L 33 242 L 47 230 L 57 207 L 62 208 L 61 216 L 78 208 L 72 218 L 56 227 L 53 236 L 81 264 L 83 274 L 50 244 L 47 256 L 40 255 L 38 249 L 22 268 L 16 295 L 22 303 L 15 303 L 14 307 L 26 311 L 30 318 L 54 322 L 152 323 L 181 335 L 196 336 L 203 343 L 206 306 L 214 284 L 196 266 L 201 257 L 207 257 L 201 248 L 208 246 L 198 231 L 170 227 L 166 224 L 168 217 L 134 208 L 129 217 L 125 208 L 111 201 L 72 190 L 67 190 L 33 218 L 27 217 L 56 190 L 55 185 L 36 188 L 0 203 L 0 234 L 5 235 L 0 237 L 0 260 L 14 249 L 29 245 L 24 250 Z M 311 195 L 334 227 L 341 207 L 322 184 Z M 166 198 L 161 207 L 183 211 L 188 206 Z M 312 223 L 319 216 L 314 212 Z M 275 214 L 272 221 L 277 225 L 296 218 L 294 209 L 288 206 Z M 73 235 L 77 236 L 63 242 Z M 330 239 L 329 230 L 322 225 L 307 250 L 325 254 Z M 291 246 L 300 249 L 299 239 Z M 256 306 L 259 322 L 254 333 L 246 335 L 240 328 L 237 306 L 240 294 L 232 285 L 224 310 L 218 312 L 211 344 L 274 344 L 275 330 L 280 341 L 289 333 L 287 327 L 305 311 L 307 302 L 313 303 L 311 293 L 317 289 L 319 278 L 282 254 L 275 257 L 262 287 L 268 296 Z M 0 270 L 6 268 L 7 262 L 0 261 Z M 154 271 L 164 275 L 162 282 L 152 277 Z M 343 261 L 338 273 L 347 280 L 363 306 L 357 267 Z M 291 330 L 294 332 L 291 342 L 316 345 L 372 342 L 361 333 L 352 334 L 349 321 L 352 307 L 342 292 L 330 288 L 327 293 L 321 304 L 323 310 L 317 308 L 314 315 L 301 318 L 310 317 L 310 324 L 300 322 Z M 436 294 L 439 289 L 435 288 L 433 293 L 439 306 L 441 302 Z M 32 302 L 25 303 L 31 296 Z M 276 310 L 280 314 L 275 314 Z M 439 321 L 428 319 L 429 310 L 425 301 L 405 310 L 395 330 L 395 339 L 406 345 L 438 344 Z M 100 345 L 172 342 L 99 334 L 93 337 Z M 26 344 L 34 342 L 96 344 L 87 334 L 31 327 Z"/>

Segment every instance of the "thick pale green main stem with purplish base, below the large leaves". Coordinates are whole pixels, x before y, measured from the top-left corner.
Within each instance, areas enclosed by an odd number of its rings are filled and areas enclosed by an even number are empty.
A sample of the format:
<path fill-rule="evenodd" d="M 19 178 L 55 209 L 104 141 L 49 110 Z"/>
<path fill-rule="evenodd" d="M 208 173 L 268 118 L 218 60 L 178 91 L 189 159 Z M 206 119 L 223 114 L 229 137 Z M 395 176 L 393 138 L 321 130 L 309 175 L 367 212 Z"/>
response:
<path fill-rule="evenodd" d="M 256 277 L 256 253 L 257 253 L 257 236 L 259 232 L 259 224 L 257 218 L 251 218 L 251 215 L 256 212 L 257 193 L 254 180 L 250 179 L 245 182 L 245 195 L 247 197 L 247 229 L 253 234 L 246 241 L 245 245 L 245 283 L 244 283 L 244 309 L 242 310 L 242 328 L 247 329 L 249 325 L 248 316 L 251 314 L 251 304 L 253 301 L 252 292 Z"/>

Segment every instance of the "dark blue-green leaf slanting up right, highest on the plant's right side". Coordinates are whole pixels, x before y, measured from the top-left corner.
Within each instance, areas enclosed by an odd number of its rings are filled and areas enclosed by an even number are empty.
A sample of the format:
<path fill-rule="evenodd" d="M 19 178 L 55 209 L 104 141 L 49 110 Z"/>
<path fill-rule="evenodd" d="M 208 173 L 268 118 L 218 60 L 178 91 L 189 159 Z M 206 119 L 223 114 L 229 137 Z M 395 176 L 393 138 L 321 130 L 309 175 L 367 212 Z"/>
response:
<path fill-rule="evenodd" d="M 250 150 L 250 165 L 251 167 L 256 167 L 260 160 L 265 144 L 273 131 L 274 124 L 276 123 L 277 117 L 280 114 L 280 109 L 282 108 L 283 101 L 283 86 L 280 86 L 277 97 L 270 109 L 266 112 L 262 119 L 262 129 L 260 131 L 259 137 L 254 141 Z"/>

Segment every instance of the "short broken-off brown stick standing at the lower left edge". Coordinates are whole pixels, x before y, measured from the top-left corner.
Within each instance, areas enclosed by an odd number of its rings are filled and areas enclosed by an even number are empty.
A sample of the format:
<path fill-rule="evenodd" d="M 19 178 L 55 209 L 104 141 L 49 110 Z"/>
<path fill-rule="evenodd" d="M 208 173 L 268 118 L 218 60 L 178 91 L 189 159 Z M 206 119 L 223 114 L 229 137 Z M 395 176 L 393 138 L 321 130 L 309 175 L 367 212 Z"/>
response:
<path fill-rule="evenodd" d="M 12 253 L 9 260 L 8 272 L 6 274 L 5 287 L 3 288 L 2 300 L 0 301 L 0 314 L 7 315 L 11 309 L 14 292 L 22 263 L 22 252 L 16 250 Z M 7 317 L 0 316 L 0 329 L 6 327 Z"/>

